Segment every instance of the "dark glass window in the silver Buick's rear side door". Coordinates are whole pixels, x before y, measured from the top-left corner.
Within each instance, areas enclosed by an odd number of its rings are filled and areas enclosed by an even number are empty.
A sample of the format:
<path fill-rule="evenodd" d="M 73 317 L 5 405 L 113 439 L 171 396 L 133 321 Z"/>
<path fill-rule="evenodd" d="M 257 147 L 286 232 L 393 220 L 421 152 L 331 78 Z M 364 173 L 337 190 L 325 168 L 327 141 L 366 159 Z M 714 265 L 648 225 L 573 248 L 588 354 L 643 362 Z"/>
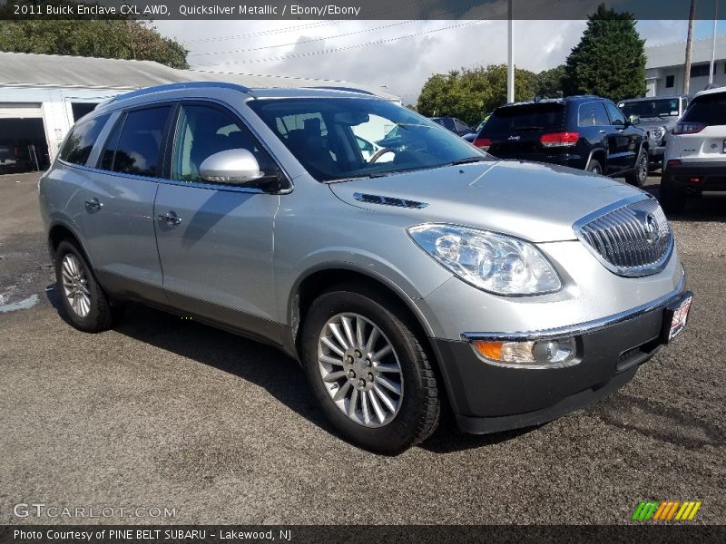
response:
<path fill-rule="evenodd" d="M 172 106 L 133 110 L 109 139 L 101 168 L 135 176 L 162 175 L 162 140 Z"/>

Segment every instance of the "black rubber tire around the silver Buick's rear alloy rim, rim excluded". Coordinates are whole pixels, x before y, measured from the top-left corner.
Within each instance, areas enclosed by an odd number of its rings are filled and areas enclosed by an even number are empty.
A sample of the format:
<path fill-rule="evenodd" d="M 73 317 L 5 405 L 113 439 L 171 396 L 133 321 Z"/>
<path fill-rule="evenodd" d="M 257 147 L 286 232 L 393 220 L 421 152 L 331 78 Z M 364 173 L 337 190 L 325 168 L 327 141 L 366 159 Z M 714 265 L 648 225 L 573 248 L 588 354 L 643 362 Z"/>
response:
<path fill-rule="evenodd" d="M 84 287 L 90 299 L 90 307 L 85 316 L 79 315 L 71 306 L 64 289 L 63 267 L 66 256 L 72 255 L 83 270 Z M 83 251 L 70 240 L 63 240 L 55 251 L 55 288 L 60 298 L 65 318 L 75 328 L 85 333 L 100 333 L 116 325 L 123 316 L 123 306 L 112 306 L 109 297 L 93 276 L 93 270 L 83 255 Z"/>

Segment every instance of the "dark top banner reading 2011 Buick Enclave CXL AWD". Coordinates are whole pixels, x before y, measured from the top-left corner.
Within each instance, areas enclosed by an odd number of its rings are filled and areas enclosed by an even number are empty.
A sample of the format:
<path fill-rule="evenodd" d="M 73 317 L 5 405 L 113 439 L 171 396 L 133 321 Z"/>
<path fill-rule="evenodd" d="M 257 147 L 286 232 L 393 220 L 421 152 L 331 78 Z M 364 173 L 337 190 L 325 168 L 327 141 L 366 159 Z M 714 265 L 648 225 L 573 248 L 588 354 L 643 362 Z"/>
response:
<path fill-rule="evenodd" d="M 604 4 L 636 19 L 688 19 L 686 0 L 512 0 L 517 20 L 578 20 Z M 697 4 L 696 19 L 715 4 Z M 248 19 L 248 20 L 495 20 L 510 16 L 509 0 L 0 0 L 0 19 Z M 724 6 L 726 9 L 726 6 Z"/>

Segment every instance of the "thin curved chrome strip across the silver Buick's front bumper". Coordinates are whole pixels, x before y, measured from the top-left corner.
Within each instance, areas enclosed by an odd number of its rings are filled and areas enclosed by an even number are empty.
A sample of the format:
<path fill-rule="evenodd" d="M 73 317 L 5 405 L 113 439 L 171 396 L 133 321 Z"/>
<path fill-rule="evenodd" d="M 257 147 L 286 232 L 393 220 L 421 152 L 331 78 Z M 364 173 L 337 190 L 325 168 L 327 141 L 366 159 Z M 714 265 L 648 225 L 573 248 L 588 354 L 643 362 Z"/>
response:
<path fill-rule="evenodd" d="M 682 272 L 678 286 L 667 295 L 656 298 L 652 302 L 636 306 L 630 310 L 625 310 L 613 316 L 601 317 L 593 321 L 586 321 L 577 325 L 565 325 L 551 329 L 543 329 L 530 332 L 516 333 L 462 333 L 461 339 L 466 342 L 483 340 L 486 342 L 518 342 L 524 340 L 544 340 L 549 338 L 561 338 L 563 336 L 578 336 L 596 333 L 612 325 L 623 323 L 634 317 L 643 316 L 653 310 L 665 308 L 679 296 L 681 296 L 685 287 L 685 270 Z"/>

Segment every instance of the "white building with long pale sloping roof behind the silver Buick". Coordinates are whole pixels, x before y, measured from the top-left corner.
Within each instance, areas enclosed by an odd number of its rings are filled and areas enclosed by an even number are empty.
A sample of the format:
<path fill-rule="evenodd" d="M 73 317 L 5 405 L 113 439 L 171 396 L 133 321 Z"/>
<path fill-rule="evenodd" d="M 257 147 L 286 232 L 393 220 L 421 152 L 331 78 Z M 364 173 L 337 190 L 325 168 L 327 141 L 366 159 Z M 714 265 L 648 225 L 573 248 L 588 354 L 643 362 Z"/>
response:
<path fill-rule="evenodd" d="M 74 121 L 99 102 L 163 83 L 225 81 L 246 87 L 354 87 L 400 102 L 378 88 L 335 80 L 176 70 L 151 61 L 124 61 L 0 52 L 0 144 L 27 158 L 33 146 L 43 169 Z"/>

